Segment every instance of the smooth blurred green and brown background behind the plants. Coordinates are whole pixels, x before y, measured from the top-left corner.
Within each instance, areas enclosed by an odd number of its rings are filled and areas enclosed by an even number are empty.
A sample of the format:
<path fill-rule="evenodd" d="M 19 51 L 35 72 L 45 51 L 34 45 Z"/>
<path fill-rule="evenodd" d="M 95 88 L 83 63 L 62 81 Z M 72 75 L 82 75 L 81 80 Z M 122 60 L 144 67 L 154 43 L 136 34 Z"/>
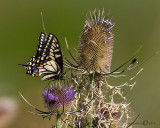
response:
<path fill-rule="evenodd" d="M 18 115 L 7 128 L 51 128 L 54 119 L 42 119 L 27 111 L 32 109 L 23 101 L 21 92 L 33 105 L 43 109 L 42 90 L 48 82 L 25 74 L 18 64 L 25 64 L 35 55 L 39 33 L 43 31 L 41 11 L 47 33 L 55 34 L 62 51 L 68 56 L 65 37 L 70 49 L 77 48 L 86 19 L 86 13 L 95 8 L 110 12 L 115 22 L 113 70 L 142 45 L 139 62 L 160 51 L 160 1 L 159 0 L 1 0 L 0 1 L 0 97 L 18 101 Z M 75 50 L 71 50 L 73 55 Z M 69 56 L 68 56 L 69 58 Z M 71 58 L 69 58 L 71 60 Z M 160 127 L 160 56 L 156 55 L 142 65 L 143 72 L 136 78 L 136 86 L 128 98 L 137 128 Z M 139 68 L 140 69 L 140 68 Z M 129 73 L 129 77 L 139 69 Z M 126 79 L 129 79 L 126 77 Z M 110 80 L 115 84 L 119 80 Z M 152 123 L 152 124 L 151 124 Z"/>

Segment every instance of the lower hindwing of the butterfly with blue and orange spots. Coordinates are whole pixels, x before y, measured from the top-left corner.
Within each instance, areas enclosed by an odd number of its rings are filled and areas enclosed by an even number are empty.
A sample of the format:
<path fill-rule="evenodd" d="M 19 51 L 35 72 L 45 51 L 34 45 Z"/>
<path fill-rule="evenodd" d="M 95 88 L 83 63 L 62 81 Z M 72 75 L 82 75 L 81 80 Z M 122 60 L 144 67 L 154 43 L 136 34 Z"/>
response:
<path fill-rule="evenodd" d="M 43 75 L 42 80 L 49 80 L 52 78 L 59 79 L 59 75 L 61 74 L 61 70 L 56 61 L 47 56 L 38 58 L 33 56 L 25 67 L 27 70 L 26 74 L 34 77 Z"/>

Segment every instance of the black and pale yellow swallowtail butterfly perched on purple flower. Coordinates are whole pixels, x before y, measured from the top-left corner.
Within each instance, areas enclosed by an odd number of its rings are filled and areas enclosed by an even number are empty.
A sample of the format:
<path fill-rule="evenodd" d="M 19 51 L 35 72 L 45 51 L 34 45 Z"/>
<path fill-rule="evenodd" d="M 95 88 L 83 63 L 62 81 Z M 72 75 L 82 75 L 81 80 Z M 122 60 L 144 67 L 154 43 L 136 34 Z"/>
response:
<path fill-rule="evenodd" d="M 42 80 L 62 79 L 65 75 L 63 72 L 63 58 L 56 36 L 51 33 L 48 36 L 41 33 L 36 55 L 22 66 L 26 68 L 26 74 L 34 77 L 42 75 Z"/>

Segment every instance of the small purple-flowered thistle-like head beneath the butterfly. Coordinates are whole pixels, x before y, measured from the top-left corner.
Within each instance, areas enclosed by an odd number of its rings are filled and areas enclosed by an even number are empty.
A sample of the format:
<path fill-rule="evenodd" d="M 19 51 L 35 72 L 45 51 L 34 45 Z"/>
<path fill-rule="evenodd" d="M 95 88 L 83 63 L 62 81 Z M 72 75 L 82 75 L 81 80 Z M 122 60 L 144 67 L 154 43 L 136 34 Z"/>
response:
<path fill-rule="evenodd" d="M 53 86 L 50 89 L 45 89 L 42 95 L 50 108 L 59 110 L 64 106 L 65 110 L 69 111 L 75 96 L 75 91 L 68 86 L 62 86 L 60 89 Z"/>

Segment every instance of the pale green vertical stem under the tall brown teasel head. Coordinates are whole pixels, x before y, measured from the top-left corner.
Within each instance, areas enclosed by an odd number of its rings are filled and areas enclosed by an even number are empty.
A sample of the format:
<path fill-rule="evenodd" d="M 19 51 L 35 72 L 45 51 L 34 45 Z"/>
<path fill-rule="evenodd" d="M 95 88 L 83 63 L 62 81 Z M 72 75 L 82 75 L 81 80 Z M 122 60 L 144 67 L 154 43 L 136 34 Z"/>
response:
<path fill-rule="evenodd" d="M 88 112 L 88 119 L 87 119 L 87 127 L 86 128 L 92 128 L 92 122 L 93 122 L 93 91 L 94 91 L 94 88 L 95 88 L 95 77 L 94 77 L 94 74 L 91 75 L 90 77 L 91 79 L 91 85 L 90 85 L 90 94 L 91 94 L 91 102 L 90 102 L 90 108 L 89 108 L 89 112 Z"/>

